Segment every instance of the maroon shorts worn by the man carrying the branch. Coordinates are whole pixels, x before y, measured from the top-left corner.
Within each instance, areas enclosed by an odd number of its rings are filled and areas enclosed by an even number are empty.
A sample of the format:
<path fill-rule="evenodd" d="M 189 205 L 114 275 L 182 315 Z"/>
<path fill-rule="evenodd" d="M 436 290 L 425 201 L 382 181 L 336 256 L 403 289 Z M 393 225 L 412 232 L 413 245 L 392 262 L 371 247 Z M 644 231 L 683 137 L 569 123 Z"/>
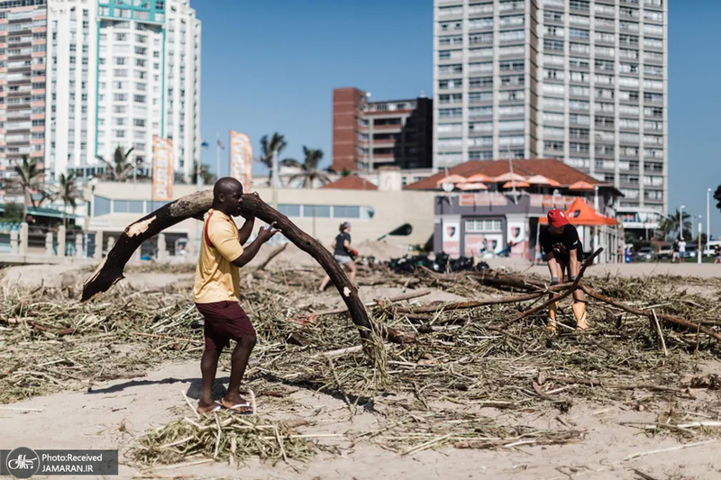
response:
<path fill-rule="evenodd" d="M 205 318 L 206 350 L 224 349 L 243 335 L 255 336 L 251 319 L 238 302 L 196 303 L 196 308 Z"/>

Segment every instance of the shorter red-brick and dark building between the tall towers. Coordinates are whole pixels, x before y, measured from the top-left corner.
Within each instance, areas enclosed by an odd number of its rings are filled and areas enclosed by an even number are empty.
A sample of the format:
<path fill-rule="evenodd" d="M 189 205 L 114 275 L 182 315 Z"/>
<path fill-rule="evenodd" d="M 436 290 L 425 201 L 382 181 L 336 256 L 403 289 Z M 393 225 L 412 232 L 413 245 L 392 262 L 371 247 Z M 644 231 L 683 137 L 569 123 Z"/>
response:
<path fill-rule="evenodd" d="M 431 168 L 433 101 L 371 102 L 358 88 L 333 89 L 333 169 Z"/>

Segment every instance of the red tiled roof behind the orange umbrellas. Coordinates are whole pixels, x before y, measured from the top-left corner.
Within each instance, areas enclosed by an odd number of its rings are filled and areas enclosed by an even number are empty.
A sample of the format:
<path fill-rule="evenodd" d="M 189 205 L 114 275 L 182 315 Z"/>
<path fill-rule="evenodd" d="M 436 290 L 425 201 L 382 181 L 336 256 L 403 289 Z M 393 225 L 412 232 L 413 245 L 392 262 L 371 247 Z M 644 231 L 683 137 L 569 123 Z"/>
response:
<path fill-rule="evenodd" d="M 448 169 L 448 175 L 461 175 L 462 177 L 470 177 L 478 173 L 486 174 L 488 177 L 498 177 L 510 172 L 508 160 L 475 160 Z M 557 158 L 538 158 L 533 160 L 513 160 L 514 173 L 531 177 L 534 175 L 543 175 L 543 177 L 552 178 L 561 185 L 569 186 L 578 181 L 588 182 L 591 185 L 609 186 L 607 183 L 600 182 L 594 177 L 589 177 L 585 173 L 572 168 Z M 445 171 L 435 174 L 433 177 L 427 177 L 423 180 L 406 186 L 408 190 L 439 190 L 440 186 L 436 186 L 437 182 L 445 177 Z"/>

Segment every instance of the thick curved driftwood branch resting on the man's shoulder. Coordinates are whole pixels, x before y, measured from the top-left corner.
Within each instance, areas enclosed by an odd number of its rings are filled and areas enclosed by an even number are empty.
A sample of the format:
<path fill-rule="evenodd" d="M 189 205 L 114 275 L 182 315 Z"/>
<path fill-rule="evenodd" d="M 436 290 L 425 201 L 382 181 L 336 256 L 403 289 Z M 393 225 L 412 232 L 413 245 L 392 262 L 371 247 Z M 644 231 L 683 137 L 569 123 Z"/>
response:
<path fill-rule="evenodd" d="M 164 205 L 155 212 L 133 222 L 128 226 L 103 263 L 97 267 L 93 276 L 87 279 L 83 285 L 82 301 L 85 302 L 97 294 L 102 294 L 123 278 L 123 268 L 132 253 L 141 246 L 141 243 L 150 239 L 172 225 L 187 220 L 188 218 L 200 219 L 213 204 L 213 194 L 210 190 L 197 192 L 178 198 L 175 202 Z M 275 222 L 283 235 L 292 241 L 299 249 L 306 251 L 315 258 L 328 276 L 331 277 L 333 285 L 341 293 L 343 302 L 351 313 L 353 323 L 360 331 L 363 340 L 370 340 L 374 324 L 370 321 L 363 303 L 358 296 L 358 290 L 351 284 L 342 268 L 333 259 L 331 253 L 318 241 L 309 236 L 305 231 L 300 230 L 297 225 L 288 220 L 287 216 L 278 213 L 268 204 L 263 202 L 257 195 L 243 195 L 241 213 L 254 215 L 263 222 Z M 408 341 L 408 334 L 392 329 L 380 331 L 383 336 L 393 341 Z"/>

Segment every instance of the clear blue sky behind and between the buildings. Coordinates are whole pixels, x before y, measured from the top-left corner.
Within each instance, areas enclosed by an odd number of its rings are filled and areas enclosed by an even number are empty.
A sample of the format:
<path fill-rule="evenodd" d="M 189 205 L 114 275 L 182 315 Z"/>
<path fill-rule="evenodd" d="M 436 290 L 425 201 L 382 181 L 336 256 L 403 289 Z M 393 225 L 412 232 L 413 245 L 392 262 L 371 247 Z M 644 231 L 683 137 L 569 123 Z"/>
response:
<path fill-rule="evenodd" d="M 374 99 L 433 92 L 432 0 L 191 0 L 203 22 L 201 131 L 215 168 L 215 133 L 286 136 L 332 152 L 332 91 L 357 86 Z M 670 2 L 669 210 L 706 216 L 706 189 L 721 184 L 721 2 Z M 227 173 L 228 150 L 221 173 Z M 258 170 L 258 168 L 256 168 Z M 711 231 L 721 235 L 712 205 Z M 706 229 L 704 218 L 704 230 Z"/>

